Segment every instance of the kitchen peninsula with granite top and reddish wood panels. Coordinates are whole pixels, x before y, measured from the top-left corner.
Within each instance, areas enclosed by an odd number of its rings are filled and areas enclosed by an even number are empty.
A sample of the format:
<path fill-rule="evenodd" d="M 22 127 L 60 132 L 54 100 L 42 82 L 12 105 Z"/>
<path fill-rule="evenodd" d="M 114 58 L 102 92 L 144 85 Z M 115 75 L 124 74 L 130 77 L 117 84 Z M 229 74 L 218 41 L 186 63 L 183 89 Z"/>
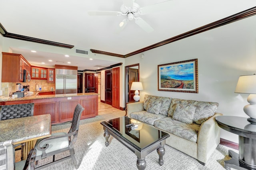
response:
<path fill-rule="evenodd" d="M 98 95 L 98 93 L 32 95 L 0 100 L 0 105 L 34 103 L 34 115 L 50 114 L 51 123 L 60 123 L 72 120 L 77 104 L 84 107 L 81 120 L 98 115 Z"/>

